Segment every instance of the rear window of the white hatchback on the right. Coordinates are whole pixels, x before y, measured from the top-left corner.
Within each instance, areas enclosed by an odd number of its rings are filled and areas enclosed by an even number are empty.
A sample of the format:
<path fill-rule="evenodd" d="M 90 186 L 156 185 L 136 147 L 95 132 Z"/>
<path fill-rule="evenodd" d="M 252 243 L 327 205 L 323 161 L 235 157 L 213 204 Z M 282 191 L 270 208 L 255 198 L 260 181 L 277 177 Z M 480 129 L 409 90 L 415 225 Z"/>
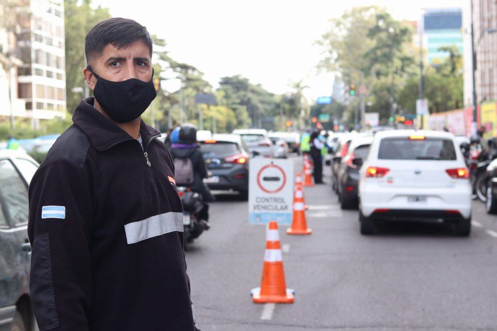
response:
<path fill-rule="evenodd" d="M 408 137 L 384 138 L 378 153 L 380 160 L 457 160 L 454 143 L 449 139 Z"/>

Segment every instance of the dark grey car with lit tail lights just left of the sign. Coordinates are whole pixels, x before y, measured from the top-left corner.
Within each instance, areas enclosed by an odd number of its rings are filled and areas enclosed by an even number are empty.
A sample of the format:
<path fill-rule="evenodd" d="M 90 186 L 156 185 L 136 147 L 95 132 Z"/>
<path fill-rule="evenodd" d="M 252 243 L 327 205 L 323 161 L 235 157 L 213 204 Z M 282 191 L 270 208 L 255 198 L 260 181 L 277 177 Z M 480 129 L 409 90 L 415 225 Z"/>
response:
<path fill-rule="evenodd" d="M 212 174 L 204 182 L 211 190 L 233 190 L 248 197 L 248 160 L 250 153 L 240 135 L 214 134 L 200 141 L 200 151 Z"/>

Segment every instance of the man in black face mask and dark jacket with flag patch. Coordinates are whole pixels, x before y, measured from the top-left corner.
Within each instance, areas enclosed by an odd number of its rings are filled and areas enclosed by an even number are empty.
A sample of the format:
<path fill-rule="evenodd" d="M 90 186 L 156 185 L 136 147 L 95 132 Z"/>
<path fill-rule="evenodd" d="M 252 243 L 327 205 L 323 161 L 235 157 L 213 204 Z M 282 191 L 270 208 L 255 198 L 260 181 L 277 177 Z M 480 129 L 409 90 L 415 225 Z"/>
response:
<path fill-rule="evenodd" d="M 29 187 L 30 292 L 40 331 L 195 331 L 182 206 L 159 132 L 152 40 L 111 18 L 85 40 L 94 98 Z"/>

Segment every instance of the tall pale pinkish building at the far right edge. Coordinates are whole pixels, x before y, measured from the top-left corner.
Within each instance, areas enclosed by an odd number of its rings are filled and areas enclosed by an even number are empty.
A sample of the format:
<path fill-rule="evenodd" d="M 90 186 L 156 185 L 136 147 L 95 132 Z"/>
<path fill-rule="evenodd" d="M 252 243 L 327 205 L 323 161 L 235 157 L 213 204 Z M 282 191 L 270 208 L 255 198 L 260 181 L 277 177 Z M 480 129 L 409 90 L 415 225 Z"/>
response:
<path fill-rule="evenodd" d="M 476 99 L 497 100 L 497 2 L 473 0 Z"/>

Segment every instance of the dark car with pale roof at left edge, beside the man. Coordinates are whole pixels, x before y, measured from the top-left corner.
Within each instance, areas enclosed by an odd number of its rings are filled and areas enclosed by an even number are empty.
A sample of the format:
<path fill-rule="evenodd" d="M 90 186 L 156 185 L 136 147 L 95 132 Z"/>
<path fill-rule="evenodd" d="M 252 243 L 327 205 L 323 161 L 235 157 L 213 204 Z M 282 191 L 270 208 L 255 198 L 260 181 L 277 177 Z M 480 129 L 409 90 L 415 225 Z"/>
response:
<path fill-rule="evenodd" d="M 0 151 L 0 331 L 32 331 L 29 296 L 28 186 L 38 164 L 20 151 Z"/>

